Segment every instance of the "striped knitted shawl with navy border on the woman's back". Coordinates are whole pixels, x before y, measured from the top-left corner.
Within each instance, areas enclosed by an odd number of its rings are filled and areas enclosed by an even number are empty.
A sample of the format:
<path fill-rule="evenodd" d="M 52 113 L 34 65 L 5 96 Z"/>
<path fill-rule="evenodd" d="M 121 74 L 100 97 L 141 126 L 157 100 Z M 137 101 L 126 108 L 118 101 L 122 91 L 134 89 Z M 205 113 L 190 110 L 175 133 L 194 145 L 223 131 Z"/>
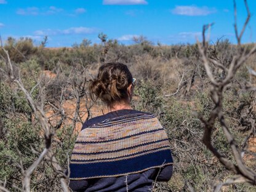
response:
<path fill-rule="evenodd" d="M 70 179 L 118 177 L 172 164 L 167 134 L 148 113 L 106 119 L 81 130 Z"/>

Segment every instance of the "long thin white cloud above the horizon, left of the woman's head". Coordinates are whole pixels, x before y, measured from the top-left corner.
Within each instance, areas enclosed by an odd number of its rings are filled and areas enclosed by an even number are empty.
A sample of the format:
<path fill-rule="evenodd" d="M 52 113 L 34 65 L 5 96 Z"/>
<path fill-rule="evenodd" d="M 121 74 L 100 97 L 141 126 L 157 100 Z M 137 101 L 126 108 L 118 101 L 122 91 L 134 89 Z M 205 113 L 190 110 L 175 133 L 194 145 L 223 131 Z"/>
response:
<path fill-rule="evenodd" d="M 66 30 L 38 30 L 34 31 L 34 34 L 36 36 L 49 36 L 49 35 L 58 35 L 58 34 L 91 34 L 94 33 L 95 29 L 94 28 L 87 28 L 84 26 L 80 27 L 71 27 Z"/>

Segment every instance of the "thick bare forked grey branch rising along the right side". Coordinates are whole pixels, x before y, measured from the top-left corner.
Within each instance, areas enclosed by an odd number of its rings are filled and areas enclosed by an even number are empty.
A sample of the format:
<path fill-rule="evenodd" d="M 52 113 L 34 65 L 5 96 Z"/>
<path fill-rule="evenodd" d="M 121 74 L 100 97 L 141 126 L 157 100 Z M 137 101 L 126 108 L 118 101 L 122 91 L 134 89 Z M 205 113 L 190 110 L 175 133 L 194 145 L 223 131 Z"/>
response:
<path fill-rule="evenodd" d="M 204 68 L 206 70 L 207 76 L 210 79 L 210 82 L 212 82 L 212 88 L 210 89 L 210 97 L 212 98 L 212 101 L 214 102 L 215 106 L 214 109 L 210 112 L 209 119 L 205 120 L 202 118 L 202 116 L 199 116 L 201 121 L 204 124 L 204 137 L 203 137 L 203 142 L 207 146 L 207 148 L 212 151 L 212 153 L 218 158 L 218 161 L 220 161 L 223 166 L 226 167 L 226 169 L 231 170 L 234 174 L 238 175 L 236 178 L 232 178 L 231 180 L 228 180 L 226 183 L 223 183 L 222 185 L 219 185 L 215 188 L 215 191 L 220 190 L 220 188 L 223 185 L 228 185 L 230 183 L 237 183 L 237 182 L 249 182 L 252 185 L 256 185 L 256 173 L 253 170 L 250 170 L 249 168 L 246 167 L 242 160 L 242 155 L 241 155 L 241 150 L 239 149 L 238 144 L 236 143 L 236 140 L 234 139 L 233 135 L 230 132 L 230 129 L 228 125 L 226 124 L 225 117 L 222 113 L 222 107 L 223 107 L 223 92 L 225 90 L 225 87 L 228 86 L 231 81 L 233 80 L 236 71 L 240 68 L 241 65 L 246 62 L 247 58 L 250 57 L 250 55 L 254 54 L 256 50 L 256 46 L 254 46 L 250 51 L 247 53 L 246 49 L 241 48 L 241 38 L 242 35 L 244 34 L 244 30 L 246 29 L 246 26 L 250 20 L 250 11 L 249 7 L 247 5 L 247 1 L 244 0 L 244 4 L 246 5 L 247 9 L 247 18 L 246 22 L 244 23 L 244 26 L 242 28 L 241 33 L 238 33 L 238 28 L 237 28 L 237 21 L 236 21 L 236 1 L 234 1 L 234 17 L 235 17 L 235 25 L 234 25 L 234 30 L 236 32 L 236 39 L 238 41 L 238 48 L 239 52 L 238 54 L 234 55 L 233 59 L 231 60 L 229 68 L 225 68 L 222 63 L 218 63 L 217 59 L 212 59 L 207 57 L 207 47 L 206 47 L 206 42 L 205 42 L 205 32 L 206 29 L 209 28 L 207 26 L 203 27 L 203 41 L 202 44 L 198 42 L 199 46 L 199 52 L 202 57 L 202 62 L 204 64 Z M 212 70 L 210 69 L 209 66 L 209 61 L 210 60 L 212 63 L 214 63 L 217 67 L 222 68 L 225 70 L 227 73 L 225 76 L 225 79 L 217 79 L 217 77 L 214 77 Z M 229 161 L 223 154 L 221 154 L 215 147 L 212 145 L 212 130 L 214 129 L 214 124 L 215 121 L 218 120 L 220 122 L 220 125 L 222 126 L 222 130 L 226 136 L 226 140 L 230 144 L 230 148 L 233 152 L 233 157 L 236 161 L 236 164 L 233 162 Z M 254 127 L 254 126 L 253 126 Z M 247 142 L 248 138 L 246 139 Z"/>

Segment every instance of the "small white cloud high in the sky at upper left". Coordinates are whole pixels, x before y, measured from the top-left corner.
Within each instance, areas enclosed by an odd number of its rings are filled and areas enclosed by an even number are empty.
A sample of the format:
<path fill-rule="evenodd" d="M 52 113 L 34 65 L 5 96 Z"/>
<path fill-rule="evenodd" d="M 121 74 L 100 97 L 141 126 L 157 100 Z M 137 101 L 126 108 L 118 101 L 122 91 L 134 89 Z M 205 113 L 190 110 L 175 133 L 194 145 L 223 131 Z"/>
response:
<path fill-rule="evenodd" d="M 38 7 L 28 7 L 26 9 L 18 9 L 16 14 L 18 15 L 53 15 L 58 12 L 62 12 L 63 9 L 50 6 L 44 9 L 39 9 Z"/>

